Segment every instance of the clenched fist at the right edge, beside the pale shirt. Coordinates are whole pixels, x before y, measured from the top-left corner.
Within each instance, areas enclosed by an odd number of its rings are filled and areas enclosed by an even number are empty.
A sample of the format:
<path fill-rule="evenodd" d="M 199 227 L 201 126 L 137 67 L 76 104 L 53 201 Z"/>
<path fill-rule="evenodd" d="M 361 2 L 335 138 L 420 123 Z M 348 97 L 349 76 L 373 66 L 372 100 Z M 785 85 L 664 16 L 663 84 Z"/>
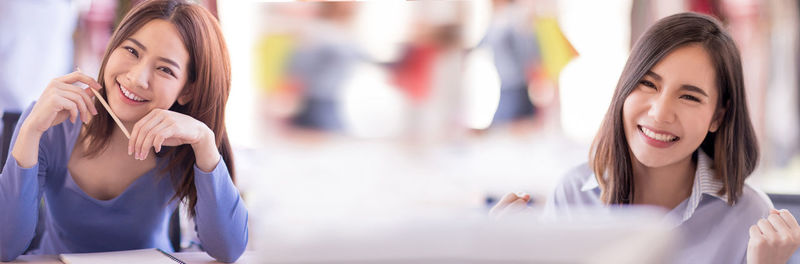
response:
<path fill-rule="evenodd" d="M 766 219 L 750 226 L 748 264 L 786 263 L 800 246 L 800 225 L 786 210 L 772 209 Z"/>

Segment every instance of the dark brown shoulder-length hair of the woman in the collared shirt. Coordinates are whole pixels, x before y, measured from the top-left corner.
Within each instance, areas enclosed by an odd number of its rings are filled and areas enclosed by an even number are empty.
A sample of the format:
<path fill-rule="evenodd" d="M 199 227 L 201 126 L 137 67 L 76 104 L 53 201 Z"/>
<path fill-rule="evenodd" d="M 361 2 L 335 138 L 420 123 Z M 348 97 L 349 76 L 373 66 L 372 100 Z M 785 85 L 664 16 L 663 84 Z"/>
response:
<path fill-rule="evenodd" d="M 592 143 L 589 162 L 608 204 L 633 203 L 633 167 L 623 128 L 622 106 L 645 73 L 671 51 L 700 44 L 711 57 L 719 89 L 717 109 L 725 108 L 719 129 L 708 133 L 700 148 L 714 159 L 715 177 L 723 182 L 719 194 L 733 205 L 742 194 L 744 180 L 758 163 L 758 142 L 744 90 L 739 50 L 716 19 L 680 13 L 656 22 L 633 47 L 620 76 L 611 105 Z M 605 176 L 604 176 L 605 175 Z"/>

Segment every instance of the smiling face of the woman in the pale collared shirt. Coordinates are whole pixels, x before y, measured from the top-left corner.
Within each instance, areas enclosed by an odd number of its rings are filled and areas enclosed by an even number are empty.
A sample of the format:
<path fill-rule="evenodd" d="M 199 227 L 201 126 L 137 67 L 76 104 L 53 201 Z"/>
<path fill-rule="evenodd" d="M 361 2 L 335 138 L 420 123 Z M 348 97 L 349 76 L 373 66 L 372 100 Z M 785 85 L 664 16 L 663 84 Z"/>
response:
<path fill-rule="evenodd" d="M 714 118 L 722 111 L 716 109 L 715 77 L 711 58 L 698 44 L 675 49 L 645 74 L 622 110 L 636 161 L 650 168 L 684 161 L 717 130 Z"/>

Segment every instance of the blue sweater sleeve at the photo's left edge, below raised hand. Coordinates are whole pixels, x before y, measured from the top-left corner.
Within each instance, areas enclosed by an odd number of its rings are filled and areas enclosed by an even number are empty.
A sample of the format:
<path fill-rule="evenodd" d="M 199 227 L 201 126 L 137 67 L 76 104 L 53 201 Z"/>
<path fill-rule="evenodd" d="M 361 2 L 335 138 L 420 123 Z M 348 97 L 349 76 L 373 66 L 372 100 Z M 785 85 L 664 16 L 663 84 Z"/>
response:
<path fill-rule="evenodd" d="M 33 105 L 17 122 L 9 151 L 14 149 L 19 129 L 31 109 Z M 10 154 L 6 159 L 0 173 L 0 261 L 16 259 L 33 240 L 39 217 L 39 201 L 44 190 L 46 160 L 47 151 L 43 143 L 39 144 L 39 161 L 31 168 L 20 167 Z"/>

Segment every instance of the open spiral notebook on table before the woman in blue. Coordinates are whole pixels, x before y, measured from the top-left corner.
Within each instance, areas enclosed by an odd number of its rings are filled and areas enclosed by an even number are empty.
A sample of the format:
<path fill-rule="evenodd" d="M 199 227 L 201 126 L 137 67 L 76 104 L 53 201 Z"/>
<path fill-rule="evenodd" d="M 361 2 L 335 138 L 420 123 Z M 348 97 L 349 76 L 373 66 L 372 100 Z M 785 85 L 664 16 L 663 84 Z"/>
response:
<path fill-rule="evenodd" d="M 175 256 L 156 248 L 99 253 L 61 254 L 59 258 L 65 264 L 186 264 Z"/>

